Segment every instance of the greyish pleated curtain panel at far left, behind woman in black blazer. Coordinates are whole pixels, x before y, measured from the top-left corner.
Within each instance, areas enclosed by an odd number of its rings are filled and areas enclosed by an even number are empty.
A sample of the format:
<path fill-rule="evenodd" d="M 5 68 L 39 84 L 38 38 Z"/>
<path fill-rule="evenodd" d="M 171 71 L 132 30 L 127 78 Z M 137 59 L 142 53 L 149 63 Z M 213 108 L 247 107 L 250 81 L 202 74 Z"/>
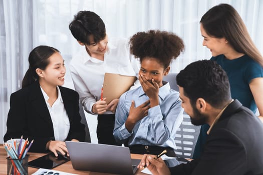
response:
<path fill-rule="evenodd" d="M 32 0 L 0 0 L 0 143 L 6 133 L 10 94 L 21 88 L 33 48 Z"/>

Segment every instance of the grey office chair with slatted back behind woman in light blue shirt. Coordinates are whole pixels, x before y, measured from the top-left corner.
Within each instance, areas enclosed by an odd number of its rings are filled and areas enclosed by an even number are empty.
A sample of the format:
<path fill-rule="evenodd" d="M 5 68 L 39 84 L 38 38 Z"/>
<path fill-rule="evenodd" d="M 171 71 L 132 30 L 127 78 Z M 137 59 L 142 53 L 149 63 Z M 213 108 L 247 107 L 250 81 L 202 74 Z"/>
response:
<path fill-rule="evenodd" d="M 164 81 L 170 83 L 170 87 L 179 91 L 176 83 L 177 73 L 168 73 L 163 77 Z M 177 156 L 184 158 L 192 158 L 194 147 L 200 132 L 200 126 L 195 126 L 191 123 L 190 116 L 183 112 L 183 121 L 176 131 L 175 143 Z"/>

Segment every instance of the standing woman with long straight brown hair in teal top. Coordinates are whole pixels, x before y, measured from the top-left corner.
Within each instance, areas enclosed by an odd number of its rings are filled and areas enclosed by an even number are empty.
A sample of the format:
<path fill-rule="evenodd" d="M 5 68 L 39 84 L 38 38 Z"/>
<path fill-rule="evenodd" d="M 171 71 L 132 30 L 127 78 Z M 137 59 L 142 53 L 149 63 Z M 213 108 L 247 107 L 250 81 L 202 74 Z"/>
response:
<path fill-rule="evenodd" d="M 263 115 L 263 57 L 250 38 L 243 20 L 229 4 L 209 9 L 200 20 L 203 45 L 226 71 L 232 98 Z M 261 117 L 260 116 L 260 117 Z M 193 158 L 200 157 L 209 125 L 202 125 Z M 252 128 L 251 128 L 252 129 Z"/>

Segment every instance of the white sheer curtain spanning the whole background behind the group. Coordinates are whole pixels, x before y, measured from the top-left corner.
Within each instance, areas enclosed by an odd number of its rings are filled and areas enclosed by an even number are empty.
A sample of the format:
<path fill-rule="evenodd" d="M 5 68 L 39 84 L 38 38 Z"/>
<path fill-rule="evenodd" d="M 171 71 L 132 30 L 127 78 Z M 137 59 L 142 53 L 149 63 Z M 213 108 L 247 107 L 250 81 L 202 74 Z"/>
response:
<path fill-rule="evenodd" d="M 129 38 L 138 31 L 149 29 L 175 32 L 185 42 L 184 53 L 172 63 L 171 71 L 178 72 L 192 61 L 211 57 L 210 51 L 202 46 L 199 20 L 212 6 L 229 3 L 239 12 L 257 48 L 263 53 L 263 12 L 260 10 L 263 0 L 0 0 L 0 3 L 0 109 L 3 125 L 0 142 L 6 132 L 7 102 L 11 92 L 20 88 L 32 45 L 46 44 L 58 48 L 67 66 L 79 48 L 68 28 L 79 10 L 99 14 L 109 37 Z M 69 69 L 65 86 L 73 87 Z M 96 124 L 92 126 L 96 127 Z M 96 129 L 90 131 L 95 138 Z"/>

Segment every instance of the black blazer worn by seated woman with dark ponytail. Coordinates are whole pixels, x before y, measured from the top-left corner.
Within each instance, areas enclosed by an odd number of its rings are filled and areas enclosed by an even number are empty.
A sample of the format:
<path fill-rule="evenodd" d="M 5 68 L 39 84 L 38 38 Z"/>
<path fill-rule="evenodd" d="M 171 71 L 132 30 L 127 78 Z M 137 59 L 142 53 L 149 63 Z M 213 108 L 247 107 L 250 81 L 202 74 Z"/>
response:
<path fill-rule="evenodd" d="M 66 140 L 75 138 L 84 141 L 85 125 L 80 122 L 79 94 L 70 88 L 62 86 L 59 88 L 70 121 L 70 130 Z M 38 81 L 11 94 L 7 127 L 4 141 L 10 138 L 20 138 L 23 135 L 23 138 L 28 137 L 30 141 L 34 139 L 30 151 L 47 151 L 47 142 L 54 140 L 54 129 Z"/>

